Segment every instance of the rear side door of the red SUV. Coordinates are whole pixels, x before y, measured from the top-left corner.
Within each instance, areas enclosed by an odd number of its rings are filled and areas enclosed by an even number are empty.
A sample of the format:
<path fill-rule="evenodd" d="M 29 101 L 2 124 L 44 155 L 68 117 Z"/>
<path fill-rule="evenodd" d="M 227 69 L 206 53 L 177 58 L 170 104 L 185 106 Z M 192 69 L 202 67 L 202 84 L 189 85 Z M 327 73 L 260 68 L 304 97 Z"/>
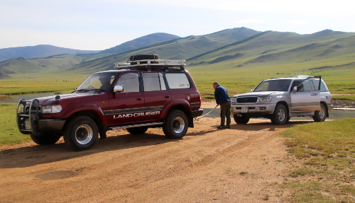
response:
<path fill-rule="evenodd" d="M 143 95 L 145 98 L 146 120 L 159 120 L 165 103 L 171 100 L 166 90 L 163 74 L 160 72 L 143 72 Z"/>

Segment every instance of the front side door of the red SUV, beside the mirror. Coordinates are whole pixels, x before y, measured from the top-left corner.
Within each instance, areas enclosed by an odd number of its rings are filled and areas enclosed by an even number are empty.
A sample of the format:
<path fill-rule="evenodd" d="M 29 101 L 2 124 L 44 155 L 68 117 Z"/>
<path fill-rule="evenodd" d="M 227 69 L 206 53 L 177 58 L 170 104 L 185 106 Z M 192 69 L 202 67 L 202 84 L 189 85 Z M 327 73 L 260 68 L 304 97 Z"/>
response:
<path fill-rule="evenodd" d="M 143 121 L 145 119 L 144 95 L 140 88 L 138 72 L 121 74 L 115 86 L 117 85 L 122 85 L 124 91 L 110 94 L 111 124 L 123 125 Z"/>

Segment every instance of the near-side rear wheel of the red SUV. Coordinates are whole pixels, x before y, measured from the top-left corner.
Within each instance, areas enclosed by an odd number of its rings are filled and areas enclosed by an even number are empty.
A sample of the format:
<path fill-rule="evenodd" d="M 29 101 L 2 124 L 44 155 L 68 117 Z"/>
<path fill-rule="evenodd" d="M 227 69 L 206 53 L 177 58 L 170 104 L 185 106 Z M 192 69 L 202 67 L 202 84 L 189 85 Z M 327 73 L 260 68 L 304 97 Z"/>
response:
<path fill-rule="evenodd" d="M 185 136 L 188 129 L 188 120 L 184 112 L 173 110 L 169 112 L 163 124 L 163 132 L 170 139 L 180 139 Z"/>

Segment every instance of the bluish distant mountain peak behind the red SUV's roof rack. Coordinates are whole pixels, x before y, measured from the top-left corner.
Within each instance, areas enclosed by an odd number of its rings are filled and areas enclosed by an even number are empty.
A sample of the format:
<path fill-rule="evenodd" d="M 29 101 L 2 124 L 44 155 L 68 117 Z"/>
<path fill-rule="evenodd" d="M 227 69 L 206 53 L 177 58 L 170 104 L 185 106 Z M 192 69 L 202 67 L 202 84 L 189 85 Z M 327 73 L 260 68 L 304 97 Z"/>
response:
<path fill-rule="evenodd" d="M 116 53 L 121 53 L 121 52 L 126 52 L 129 50 L 135 50 L 137 48 L 141 47 L 146 47 L 149 45 L 154 45 L 160 42 L 165 42 L 168 40 L 173 40 L 180 38 L 177 35 L 170 35 L 167 33 L 153 33 L 151 35 L 146 35 L 143 37 L 138 37 L 134 40 L 124 42 L 121 45 L 117 45 L 116 47 L 109 48 L 107 50 L 103 50 L 100 52 L 100 54 L 116 54 Z"/>

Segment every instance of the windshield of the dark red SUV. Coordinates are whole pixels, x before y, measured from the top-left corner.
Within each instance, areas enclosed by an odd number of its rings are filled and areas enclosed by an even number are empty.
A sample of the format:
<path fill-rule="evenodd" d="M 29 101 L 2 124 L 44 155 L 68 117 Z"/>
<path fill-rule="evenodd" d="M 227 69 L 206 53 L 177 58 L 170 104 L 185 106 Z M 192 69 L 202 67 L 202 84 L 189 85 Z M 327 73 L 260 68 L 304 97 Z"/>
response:
<path fill-rule="evenodd" d="M 77 91 L 108 91 L 111 83 L 114 81 L 116 73 L 98 73 L 89 76 L 80 86 Z"/>

